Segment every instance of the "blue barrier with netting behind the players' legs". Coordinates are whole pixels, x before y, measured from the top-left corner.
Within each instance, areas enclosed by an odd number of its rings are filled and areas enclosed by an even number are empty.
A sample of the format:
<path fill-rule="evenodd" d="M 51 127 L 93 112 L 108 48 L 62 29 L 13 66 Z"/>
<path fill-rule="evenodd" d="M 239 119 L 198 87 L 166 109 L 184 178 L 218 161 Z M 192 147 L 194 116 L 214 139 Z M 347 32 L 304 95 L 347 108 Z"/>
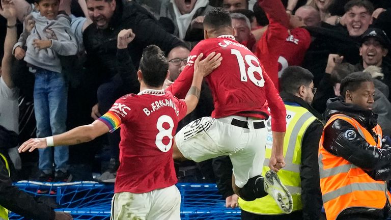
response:
<path fill-rule="evenodd" d="M 42 183 L 20 181 L 15 183 L 27 193 L 57 204 L 58 211 L 71 213 L 73 219 L 109 220 L 114 185 L 97 182 Z M 240 219 L 240 209 L 225 207 L 216 184 L 178 183 L 181 193 L 183 220 Z M 24 219 L 10 213 L 10 219 Z"/>

